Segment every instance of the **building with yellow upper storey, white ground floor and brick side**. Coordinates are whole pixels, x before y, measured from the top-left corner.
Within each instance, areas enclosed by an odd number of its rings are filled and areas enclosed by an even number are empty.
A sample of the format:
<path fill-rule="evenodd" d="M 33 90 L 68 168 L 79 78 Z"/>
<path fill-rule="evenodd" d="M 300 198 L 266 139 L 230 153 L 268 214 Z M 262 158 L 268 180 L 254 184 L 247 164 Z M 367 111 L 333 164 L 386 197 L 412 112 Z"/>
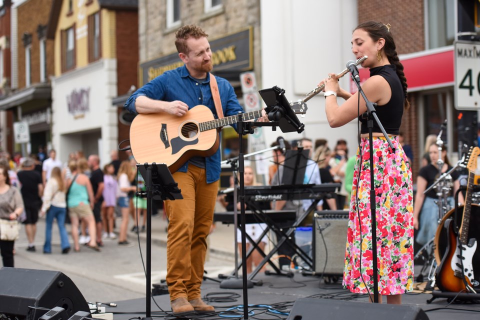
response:
<path fill-rule="evenodd" d="M 111 99 L 137 78 L 137 17 L 136 0 L 53 1 L 52 144 L 61 160 L 82 150 L 103 164 L 116 149 L 124 128 Z"/>

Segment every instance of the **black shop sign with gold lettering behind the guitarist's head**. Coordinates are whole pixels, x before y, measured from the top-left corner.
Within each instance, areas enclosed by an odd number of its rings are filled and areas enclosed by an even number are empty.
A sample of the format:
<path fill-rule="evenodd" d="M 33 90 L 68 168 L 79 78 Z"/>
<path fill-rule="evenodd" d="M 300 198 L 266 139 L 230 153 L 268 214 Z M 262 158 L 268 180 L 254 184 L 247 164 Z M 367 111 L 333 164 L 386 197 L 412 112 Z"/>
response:
<path fill-rule="evenodd" d="M 253 29 L 248 27 L 210 41 L 213 72 L 243 72 L 253 68 Z M 182 66 L 178 53 L 165 55 L 144 63 L 140 68 L 140 86 L 165 71 Z"/>

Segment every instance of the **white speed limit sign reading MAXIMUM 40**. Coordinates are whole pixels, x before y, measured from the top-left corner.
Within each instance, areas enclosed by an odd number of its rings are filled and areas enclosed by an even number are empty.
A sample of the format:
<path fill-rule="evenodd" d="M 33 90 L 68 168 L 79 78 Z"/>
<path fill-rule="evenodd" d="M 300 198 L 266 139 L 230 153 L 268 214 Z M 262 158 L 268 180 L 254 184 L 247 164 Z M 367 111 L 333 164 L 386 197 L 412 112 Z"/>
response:
<path fill-rule="evenodd" d="M 456 41 L 455 108 L 480 109 L 480 42 Z"/>

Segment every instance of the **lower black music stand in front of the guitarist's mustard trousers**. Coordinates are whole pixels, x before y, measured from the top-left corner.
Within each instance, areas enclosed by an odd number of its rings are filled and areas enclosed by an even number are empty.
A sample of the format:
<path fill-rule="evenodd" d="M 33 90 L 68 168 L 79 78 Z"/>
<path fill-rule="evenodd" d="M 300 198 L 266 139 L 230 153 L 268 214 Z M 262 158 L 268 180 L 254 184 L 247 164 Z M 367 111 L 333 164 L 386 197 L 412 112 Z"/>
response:
<path fill-rule="evenodd" d="M 141 176 L 145 180 L 146 190 L 136 192 L 137 196 L 146 197 L 146 312 L 142 319 L 151 320 L 151 200 L 183 199 L 178 183 L 164 163 L 137 164 Z"/>

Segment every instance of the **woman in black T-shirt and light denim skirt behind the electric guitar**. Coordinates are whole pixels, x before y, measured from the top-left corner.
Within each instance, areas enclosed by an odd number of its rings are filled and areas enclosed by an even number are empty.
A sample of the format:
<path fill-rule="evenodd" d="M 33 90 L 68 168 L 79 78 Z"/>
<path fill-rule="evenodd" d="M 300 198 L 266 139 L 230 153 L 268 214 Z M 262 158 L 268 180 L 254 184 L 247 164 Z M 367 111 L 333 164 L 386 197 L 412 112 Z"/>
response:
<path fill-rule="evenodd" d="M 418 176 L 416 177 L 416 194 L 413 206 L 413 227 L 418 230 L 415 241 L 421 245 L 426 244 L 430 239 L 435 236 L 436 229 L 438 227 L 438 219 L 446 213 L 442 212 L 439 215 L 438 211 L 438 195 L 436 194 L 436 188 L 431 189 L 426 194 L 423 192 L 436 181 L 439 176 L 438 164 L 438 146 L 431 144 L 429 148 L 430 164 L 420 168 Z M 446 172 L 451 169 L 451 165 L 446 155 L 445 145 L 442 146 L 441 160 L 443 164 L 441 166 L 441 172 Z M 459 189 L 459 172 L 454 170 L 450 173 L 451 181 L 453 182 L 453 188 L 450 190 L 447 197 L 447 204 L 450 209 L 454 206 L 453 194 Z M 463 194 L 458 194 L 458 201 L 463 203 Z"/>

